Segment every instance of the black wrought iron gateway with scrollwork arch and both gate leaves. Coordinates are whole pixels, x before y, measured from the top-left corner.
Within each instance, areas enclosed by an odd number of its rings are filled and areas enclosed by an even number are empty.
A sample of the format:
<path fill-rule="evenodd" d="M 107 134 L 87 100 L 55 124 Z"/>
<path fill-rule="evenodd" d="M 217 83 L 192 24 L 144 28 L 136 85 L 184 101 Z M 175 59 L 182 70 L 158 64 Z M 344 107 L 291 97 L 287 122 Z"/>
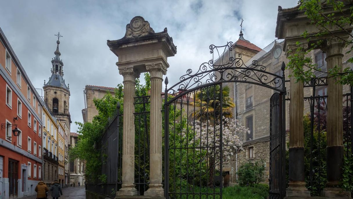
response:
<path fill-rule="evenodd" d="M 270 198 L 285 191 L 285 75 L 266 71 L 241 55 L 233 43 L 210 46 L 213 58 L 167 88 L 164 101 L 164 189 L 166 198 L 222 198 L 222 164 L 237 146 L 234 103 L 224 83 L 254 84 L 277 91 L 270 99 Z M 239 130 L 239 129 L 238 129 Z M 234 131 L 233 131 L 234 132 Z M 226 150 L 227 149 L 227 150 Z"/>

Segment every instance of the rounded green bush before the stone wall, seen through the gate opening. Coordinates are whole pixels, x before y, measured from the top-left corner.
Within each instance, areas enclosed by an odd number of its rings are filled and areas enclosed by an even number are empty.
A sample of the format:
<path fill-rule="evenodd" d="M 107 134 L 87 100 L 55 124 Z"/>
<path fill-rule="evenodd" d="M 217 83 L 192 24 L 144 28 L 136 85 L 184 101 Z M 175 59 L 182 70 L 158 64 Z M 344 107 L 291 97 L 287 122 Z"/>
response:
<path fill-rule="evenodd" d="M 253 186 L 264 179 L 265 165 L 258 161 L 244 163 L 238 169 L 238 183 L 240 186 Z"/>

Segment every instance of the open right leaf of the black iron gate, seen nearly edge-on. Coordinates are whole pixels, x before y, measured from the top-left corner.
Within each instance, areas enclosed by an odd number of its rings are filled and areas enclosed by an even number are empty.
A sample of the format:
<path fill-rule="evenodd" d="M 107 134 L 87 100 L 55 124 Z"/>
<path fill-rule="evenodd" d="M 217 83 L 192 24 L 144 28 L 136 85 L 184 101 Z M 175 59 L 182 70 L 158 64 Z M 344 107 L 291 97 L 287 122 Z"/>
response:
<path fill-rule="evenodd" d="M 274 93 L 270 99 L 270 199 L 282 199 L 286 189 L 285 96 Z"/>

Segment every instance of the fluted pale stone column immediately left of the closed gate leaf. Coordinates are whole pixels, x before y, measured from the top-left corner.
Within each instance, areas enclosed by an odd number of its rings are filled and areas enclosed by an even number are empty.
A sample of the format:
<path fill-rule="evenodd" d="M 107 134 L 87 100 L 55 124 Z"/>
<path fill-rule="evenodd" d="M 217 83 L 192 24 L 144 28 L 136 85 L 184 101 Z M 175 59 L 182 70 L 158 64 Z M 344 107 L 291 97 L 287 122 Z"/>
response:
<path fill-rule="evenodd" d="M 154 198 L 164 198 L 162 186 L 162 76 L 167 72 L 163 63 L 146 64 L 151 74 L 150 108 L 150 184 L 144 193 Z"/>

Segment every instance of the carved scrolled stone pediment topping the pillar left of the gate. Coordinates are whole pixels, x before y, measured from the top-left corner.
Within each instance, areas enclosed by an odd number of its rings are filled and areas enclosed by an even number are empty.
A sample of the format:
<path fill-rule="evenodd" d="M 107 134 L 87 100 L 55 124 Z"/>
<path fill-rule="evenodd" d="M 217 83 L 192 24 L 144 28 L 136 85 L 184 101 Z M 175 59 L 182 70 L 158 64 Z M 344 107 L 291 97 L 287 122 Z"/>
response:
<path fill-rule="evenodd" d="M 126 25 L 125 38 L 136 38 L 155 33 L 150 27 L 150 23 L 145 21 L 143 17 L 136 16 L 131 19 L 130 23 Z"/>

